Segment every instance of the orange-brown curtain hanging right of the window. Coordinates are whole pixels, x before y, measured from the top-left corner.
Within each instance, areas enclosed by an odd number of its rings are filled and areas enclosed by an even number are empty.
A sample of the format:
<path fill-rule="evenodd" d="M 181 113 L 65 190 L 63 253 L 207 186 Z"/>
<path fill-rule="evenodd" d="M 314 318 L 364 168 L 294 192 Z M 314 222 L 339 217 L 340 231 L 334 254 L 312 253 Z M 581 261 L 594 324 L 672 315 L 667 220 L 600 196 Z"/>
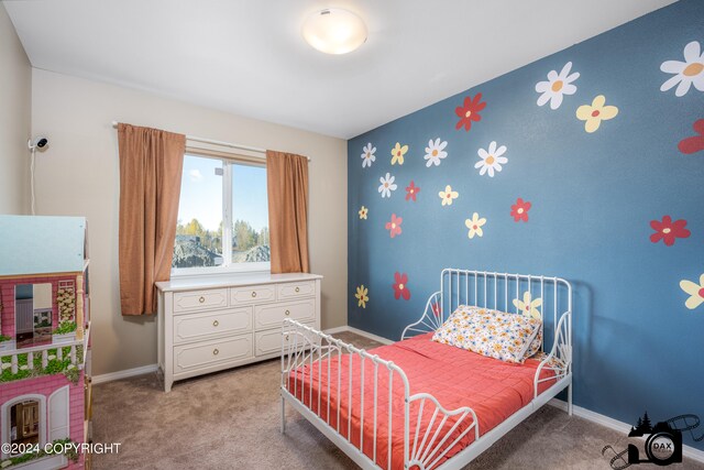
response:
<path fill-rule="evenodd" d="M 309 273 L 308 159 L 266 151 L 272 274 Z"/>

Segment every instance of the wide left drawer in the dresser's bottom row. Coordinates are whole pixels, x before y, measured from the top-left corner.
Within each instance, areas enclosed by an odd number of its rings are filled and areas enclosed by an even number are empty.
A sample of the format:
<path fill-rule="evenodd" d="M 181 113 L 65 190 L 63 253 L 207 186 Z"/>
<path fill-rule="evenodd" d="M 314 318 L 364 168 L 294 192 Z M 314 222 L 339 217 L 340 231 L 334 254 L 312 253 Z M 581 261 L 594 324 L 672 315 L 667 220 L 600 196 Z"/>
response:
<path fill-rule="evenodd" d="M 174 374 L 252 358 L 252 335 L 174 347 Z"/>

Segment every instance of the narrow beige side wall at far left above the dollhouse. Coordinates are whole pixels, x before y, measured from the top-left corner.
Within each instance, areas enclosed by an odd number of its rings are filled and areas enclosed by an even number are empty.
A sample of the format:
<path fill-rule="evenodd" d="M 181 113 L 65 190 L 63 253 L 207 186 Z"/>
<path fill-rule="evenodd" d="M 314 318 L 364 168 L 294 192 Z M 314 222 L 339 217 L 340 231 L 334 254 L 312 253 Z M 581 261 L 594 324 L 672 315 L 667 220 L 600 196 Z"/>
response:
<path fill-rule="evenodd" d="M 0 214 L 29 207 L 32 68 L 0 2 Z"/>

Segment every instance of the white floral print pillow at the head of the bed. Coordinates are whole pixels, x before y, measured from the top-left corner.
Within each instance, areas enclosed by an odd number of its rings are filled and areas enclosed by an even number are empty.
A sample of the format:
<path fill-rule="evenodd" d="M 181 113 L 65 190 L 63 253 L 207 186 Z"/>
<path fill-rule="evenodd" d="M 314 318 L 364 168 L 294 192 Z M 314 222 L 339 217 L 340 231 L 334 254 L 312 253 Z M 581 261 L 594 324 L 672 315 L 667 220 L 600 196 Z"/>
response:
<path fill-rule="evenodd" d="M 540 324 L 539 319 L 524 315 L 461 305 L 432 340 L 505 362 L 522 363 Z"/>

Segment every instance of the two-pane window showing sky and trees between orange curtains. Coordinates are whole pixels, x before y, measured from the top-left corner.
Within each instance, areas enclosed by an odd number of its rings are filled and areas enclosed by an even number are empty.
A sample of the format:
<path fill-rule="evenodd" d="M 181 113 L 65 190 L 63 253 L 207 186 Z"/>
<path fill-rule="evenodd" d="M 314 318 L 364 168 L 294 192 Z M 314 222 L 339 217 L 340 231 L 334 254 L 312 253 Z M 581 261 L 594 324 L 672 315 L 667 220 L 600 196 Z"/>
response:
<path fill-rule="evenodd" d="M 266 166 L 186 154 L 175 273 L 268 271 Z"/>

